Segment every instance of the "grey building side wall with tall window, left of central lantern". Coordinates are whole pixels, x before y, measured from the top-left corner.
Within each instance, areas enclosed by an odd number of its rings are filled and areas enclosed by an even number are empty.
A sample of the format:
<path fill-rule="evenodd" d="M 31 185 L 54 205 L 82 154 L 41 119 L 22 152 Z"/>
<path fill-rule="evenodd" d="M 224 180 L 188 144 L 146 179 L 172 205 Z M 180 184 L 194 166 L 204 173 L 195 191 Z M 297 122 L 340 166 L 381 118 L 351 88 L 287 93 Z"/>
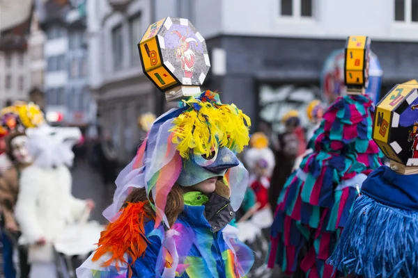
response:
<path fill-rule="evenodd" d="M 155 112 L 155 89 L 141 70 L 137 43 L 152 21 L 151 1 L 88 1 L 90 90 L 101 130 L 111 131 L 119 160 L 140 142 L 137 117 Z"/>

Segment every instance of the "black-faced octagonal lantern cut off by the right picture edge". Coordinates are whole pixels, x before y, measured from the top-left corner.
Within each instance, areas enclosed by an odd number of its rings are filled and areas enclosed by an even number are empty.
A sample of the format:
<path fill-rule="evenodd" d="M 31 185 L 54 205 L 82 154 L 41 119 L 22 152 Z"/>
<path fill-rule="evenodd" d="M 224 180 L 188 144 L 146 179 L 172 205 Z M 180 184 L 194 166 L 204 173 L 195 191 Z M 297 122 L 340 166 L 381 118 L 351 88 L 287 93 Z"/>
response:
<path fill-rule="evenodd" d="M 376 106 L 373 140 L 392 161 L 418 166 L 418 82 L 396 85 Z"/>

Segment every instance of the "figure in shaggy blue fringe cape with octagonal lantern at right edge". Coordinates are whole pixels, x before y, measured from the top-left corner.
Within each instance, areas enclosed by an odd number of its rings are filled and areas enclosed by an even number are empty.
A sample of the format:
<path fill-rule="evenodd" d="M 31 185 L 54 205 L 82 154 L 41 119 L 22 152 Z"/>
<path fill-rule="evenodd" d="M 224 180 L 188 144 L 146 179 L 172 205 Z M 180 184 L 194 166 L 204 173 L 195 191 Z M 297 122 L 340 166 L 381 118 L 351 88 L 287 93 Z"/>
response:
<path fill-rule="evenodd" d="M 350 277 L 418 277 L 418 82 L 396 85 L 376 106 L 373 139 L 390 160 L 369 174 L 328 263 Z"/>

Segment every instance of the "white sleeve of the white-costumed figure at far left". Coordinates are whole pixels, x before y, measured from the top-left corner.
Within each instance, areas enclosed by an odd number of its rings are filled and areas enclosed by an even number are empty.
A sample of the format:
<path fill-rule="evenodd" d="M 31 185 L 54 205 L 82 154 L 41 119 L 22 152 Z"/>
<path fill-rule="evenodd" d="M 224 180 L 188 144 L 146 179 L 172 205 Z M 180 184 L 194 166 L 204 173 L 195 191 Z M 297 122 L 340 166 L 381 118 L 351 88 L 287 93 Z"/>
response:
<path fill-rule="evenodd" d="M 35 243 L 44 236 L 36 215 L 38 189 L 42 182 L 38 177 L 39 174 L 29 168 L 22 171 L 20 177 L 20 192 L 17 196 L 15 215 L 27 243 Z"/>

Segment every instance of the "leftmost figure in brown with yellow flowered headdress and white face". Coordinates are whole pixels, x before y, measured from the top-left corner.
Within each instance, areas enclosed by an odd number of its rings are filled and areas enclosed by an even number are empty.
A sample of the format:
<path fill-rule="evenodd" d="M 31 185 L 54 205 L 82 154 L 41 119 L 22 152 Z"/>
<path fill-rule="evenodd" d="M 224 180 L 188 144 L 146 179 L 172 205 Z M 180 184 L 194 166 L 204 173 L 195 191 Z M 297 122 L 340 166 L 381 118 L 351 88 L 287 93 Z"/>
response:
<path fill-rule="evenodd" d="M 27 149 L 27 137 L 24 133 L 28 127 L 42 124 L 43 117 L 38 106 L 23 101 L 16 101 L 13 106 L 3 108 L 1 111 L 1 135 L 5 143 L 7 164 L 0 177 L 0 204 L 3 212 L 3 257 L 6 278 L 15 277 L 16 271 L 13 265 L 13 250 L 19 252 L 20 277 L 29 277 L 29 265 L 27 263 L 27 250 L 17 246 L 17 238 L 20 236 L 20 227 L 15 220 L 15 205 L 20 191 L 19 177 L 32 163 L 32 157 Z M 4 149 L 3 149 L 4 150 Z"/>

